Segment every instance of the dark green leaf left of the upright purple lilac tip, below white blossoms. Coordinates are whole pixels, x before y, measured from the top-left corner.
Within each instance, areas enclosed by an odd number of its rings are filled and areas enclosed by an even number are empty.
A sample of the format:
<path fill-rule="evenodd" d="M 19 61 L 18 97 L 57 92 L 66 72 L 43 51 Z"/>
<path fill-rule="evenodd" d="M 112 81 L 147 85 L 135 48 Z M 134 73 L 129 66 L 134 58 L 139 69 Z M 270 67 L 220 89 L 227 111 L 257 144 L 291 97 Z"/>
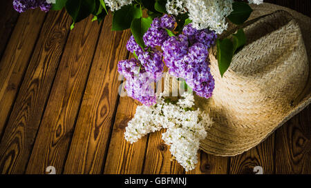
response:
<path fill-rule="evenodd" d="M 136 6 L 123 6 L 120 10 L 113 13 L 113 31 L 126 30 L 131 27 L 133 19 L 142 17 L 140 8 Z"/>

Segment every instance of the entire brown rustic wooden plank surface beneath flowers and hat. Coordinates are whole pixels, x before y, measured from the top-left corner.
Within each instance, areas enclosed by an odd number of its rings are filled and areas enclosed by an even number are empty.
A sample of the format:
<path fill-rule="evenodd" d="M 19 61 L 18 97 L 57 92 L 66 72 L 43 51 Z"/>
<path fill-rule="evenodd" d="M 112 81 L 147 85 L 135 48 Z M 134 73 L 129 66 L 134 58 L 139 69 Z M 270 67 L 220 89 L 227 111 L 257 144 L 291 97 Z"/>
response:
<path fill-rule="evenodd" d="M 311 17 L 311 1 L 268 0 Z M 129 30 L 111 31 L 111 14 L 70 31 L 63 11 L 17 14 L 0 8 L 1 174 L 311 174 L 311 107 L 267 140 L 234 157 L 199 152 L 196 169 L 171 160 L 161 133 L 124 140 L 138 102 L 117 94 L 117 61 L 131 58 Z M 310 45 L 310 44 L 309 44 Z"/>

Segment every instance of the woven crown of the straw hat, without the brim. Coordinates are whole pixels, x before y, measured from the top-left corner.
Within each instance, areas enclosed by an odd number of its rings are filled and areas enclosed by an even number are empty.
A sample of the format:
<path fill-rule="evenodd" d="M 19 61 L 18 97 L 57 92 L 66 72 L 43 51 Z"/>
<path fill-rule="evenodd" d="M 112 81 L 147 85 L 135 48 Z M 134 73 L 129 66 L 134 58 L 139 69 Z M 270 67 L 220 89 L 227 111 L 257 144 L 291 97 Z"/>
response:
<path fill-rule="evenodd" d="M 229 127 L 263 129 L 267 121 L 281 121 L 301 94 L 308 80 L 308 56 L 298 23 L 283 10 L 244 26 L 247 43 L 223 77 L 211 56 L 211 114 L 225 118 Z"/>

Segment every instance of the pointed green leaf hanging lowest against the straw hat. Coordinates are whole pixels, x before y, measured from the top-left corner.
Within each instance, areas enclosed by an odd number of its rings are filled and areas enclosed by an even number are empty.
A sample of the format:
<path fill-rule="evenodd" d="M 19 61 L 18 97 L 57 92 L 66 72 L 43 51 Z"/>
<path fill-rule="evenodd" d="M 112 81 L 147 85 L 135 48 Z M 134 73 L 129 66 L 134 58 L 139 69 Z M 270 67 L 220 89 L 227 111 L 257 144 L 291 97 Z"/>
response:
<path fill-rule="evenodd" d="M 223 76 L 232 61 L 234 46 L 230 39 L 223 39 L 223 41 L 217 39 L 216 45 L 218 68 L 220 75 Z"/>

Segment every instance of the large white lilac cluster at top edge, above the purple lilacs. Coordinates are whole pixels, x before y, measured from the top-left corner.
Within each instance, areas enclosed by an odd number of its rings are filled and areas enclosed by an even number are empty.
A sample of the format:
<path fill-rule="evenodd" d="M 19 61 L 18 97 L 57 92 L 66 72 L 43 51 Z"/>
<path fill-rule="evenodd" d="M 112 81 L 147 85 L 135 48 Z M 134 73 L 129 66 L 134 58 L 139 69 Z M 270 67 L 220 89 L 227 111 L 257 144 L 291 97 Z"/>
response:
<path fill-rule="evenodd" d="M 227 29 L 225 18 L 232 12 L 233 0 L 168 0 L 166 9 L 169 14 L 188 12 L 194 28 L 209 28 L 217 34 Z M 263 3 L 263 0 L 249 0 L 249 3 Z"/>

